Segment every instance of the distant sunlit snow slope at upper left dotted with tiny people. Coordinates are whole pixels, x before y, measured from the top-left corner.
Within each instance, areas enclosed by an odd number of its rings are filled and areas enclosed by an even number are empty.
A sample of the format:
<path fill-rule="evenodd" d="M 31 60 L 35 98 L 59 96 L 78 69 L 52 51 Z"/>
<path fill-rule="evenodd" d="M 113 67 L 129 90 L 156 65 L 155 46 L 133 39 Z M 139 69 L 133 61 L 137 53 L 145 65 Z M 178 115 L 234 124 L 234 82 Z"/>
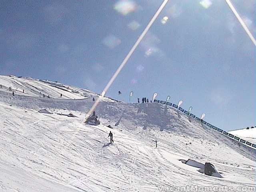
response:
<path fill-rule="evenodd" d="M 74 86 L 64 85 L 58 82 L 52 82 L 48 80 L 39 80 L 33 78 L 24 78 L 16 76 L 4 76 L 0 75 L 0 91 L 14 92 L 14 94 L 23 96 L 34 96 L 45 98 L 63 98 L 63 99 L 95 99 L 99 96 L 89 90 L 77 88 Z M 12 91 L 9 90 L 12 88 Z M 23 93 L 24 90 L 24 93 Z M 40 94 L 41 93 L 41 94 Z M 62 97 L 60 97 L 62 94 Z M 104 101 L 113 102 L 113 100 L 104 98 Z"/>

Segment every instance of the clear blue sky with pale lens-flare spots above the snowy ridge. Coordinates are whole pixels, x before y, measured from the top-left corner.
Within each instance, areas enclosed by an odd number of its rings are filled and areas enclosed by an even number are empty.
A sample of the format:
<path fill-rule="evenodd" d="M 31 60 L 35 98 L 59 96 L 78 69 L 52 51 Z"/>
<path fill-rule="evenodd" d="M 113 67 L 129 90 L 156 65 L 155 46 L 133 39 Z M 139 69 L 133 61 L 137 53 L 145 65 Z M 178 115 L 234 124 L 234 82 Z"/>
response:
<path fill-rule="evenodd" d="M 101 93 L 161 2 L 4 0 L 0 74 Z M 256 36 L 256 0 L 232 2 Z M 157 92 L 224 130 L 255 126 L 255 55 L 224 0 L 170 0 L 106 96 Z"/>

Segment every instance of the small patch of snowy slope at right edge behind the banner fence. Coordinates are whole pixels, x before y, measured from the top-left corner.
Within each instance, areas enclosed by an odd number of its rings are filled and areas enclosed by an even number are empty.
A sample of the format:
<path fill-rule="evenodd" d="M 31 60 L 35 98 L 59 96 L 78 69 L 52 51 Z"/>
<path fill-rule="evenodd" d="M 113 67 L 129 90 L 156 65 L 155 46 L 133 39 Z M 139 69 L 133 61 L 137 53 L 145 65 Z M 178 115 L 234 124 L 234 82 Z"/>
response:
<path fill-rule="evenodd" d="M 246 141 L 252 142 L 256 144 L 256 128 L 249 128 L 249 129 L 239 129 L 234 131 L 229 131 L 228 133 L 232 135 L 236 135 Z"/>

